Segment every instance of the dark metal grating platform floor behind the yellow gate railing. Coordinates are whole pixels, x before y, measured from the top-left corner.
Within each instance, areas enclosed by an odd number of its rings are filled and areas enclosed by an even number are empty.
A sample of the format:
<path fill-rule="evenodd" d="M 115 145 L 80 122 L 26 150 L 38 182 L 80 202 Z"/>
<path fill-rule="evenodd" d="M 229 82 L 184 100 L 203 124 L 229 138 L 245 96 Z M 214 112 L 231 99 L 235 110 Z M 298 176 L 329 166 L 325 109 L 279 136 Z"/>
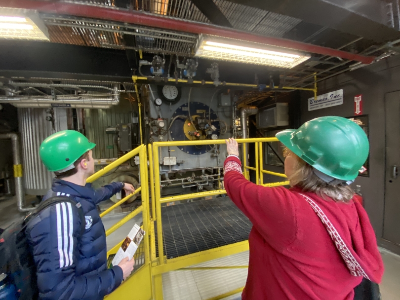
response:
<path fill-rule="evenodd" d="M 161 217 L 167 259 L 247 240 L 252 226 L 228 197 L 162 207 Z"/>

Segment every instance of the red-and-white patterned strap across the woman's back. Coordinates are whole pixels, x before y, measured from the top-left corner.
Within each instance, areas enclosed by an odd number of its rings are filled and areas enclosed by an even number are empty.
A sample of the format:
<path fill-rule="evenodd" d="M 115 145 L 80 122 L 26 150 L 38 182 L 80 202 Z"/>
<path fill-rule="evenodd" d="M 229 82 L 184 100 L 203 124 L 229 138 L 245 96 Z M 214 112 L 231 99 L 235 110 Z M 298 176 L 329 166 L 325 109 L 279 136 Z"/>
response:
<path fill-rule="evenodd" d="M 339 232 L 336 230 L 335 226 L 330 222 L 325 213 L 321 210 L 318 204 L 311 199 L 310 197 L 299 193 L 310 206 L 313 208 L 317 216 L 320 218 L 322 224 L 325 226 L 326 230 L 329 233 L 330 238 L 336 246 L 336 249 L 339 251 L 343 260 L 345 261 L 347 268 L 353 276 L 363 276 L 366 279 L 369 279 L 368 275 L 364 271 L 364 269 L 360 266 L 360 263 L 357 262 L 356 258 L 350 252 L 349 247 L 347 247 L 346 243 L 343 241 L 342 237 L 339 235 Z"/>

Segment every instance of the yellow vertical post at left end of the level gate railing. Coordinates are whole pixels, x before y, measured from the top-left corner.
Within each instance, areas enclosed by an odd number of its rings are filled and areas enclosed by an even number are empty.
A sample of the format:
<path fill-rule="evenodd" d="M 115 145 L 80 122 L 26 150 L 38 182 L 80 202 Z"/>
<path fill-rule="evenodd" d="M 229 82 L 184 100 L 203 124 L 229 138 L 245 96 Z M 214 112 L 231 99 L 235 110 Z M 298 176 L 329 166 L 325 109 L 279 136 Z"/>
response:
<path fill-rule="evenodd" d="M 159 246 L 159 264 L 164 263 L 164 248 L 162 244 L 162 224 L 161 224 L 161 191 L 160 191 L 160 158 L 159 158 L 159 146 L 154 145 L 154 185 L 155 185 L 155 200 L 156 200 L 156 218 L 157 218 L 157 241 Z"/>

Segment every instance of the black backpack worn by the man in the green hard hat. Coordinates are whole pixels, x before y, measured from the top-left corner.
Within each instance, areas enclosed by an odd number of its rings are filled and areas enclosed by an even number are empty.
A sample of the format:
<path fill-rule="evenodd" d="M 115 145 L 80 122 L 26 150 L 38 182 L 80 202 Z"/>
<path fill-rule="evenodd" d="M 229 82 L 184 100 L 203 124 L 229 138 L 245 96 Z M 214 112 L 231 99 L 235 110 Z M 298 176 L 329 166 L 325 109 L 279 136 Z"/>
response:
<path fill-rule="evenodd" d="M 36 266 L 31 247 L 25 234 L 29 221 L 41 211 L 57 203 L 70 202 L 80 208 L 72 198 L 55 196 L 42 201 L 36 210 L 3 230 L 0 235 L 0 274 L 7 274 L 8 281 L 16 286 L 20 300 L 35 300 L 39 297 Z M 82 228 L 85 227 L 83 212 L 79 209 Z"/>

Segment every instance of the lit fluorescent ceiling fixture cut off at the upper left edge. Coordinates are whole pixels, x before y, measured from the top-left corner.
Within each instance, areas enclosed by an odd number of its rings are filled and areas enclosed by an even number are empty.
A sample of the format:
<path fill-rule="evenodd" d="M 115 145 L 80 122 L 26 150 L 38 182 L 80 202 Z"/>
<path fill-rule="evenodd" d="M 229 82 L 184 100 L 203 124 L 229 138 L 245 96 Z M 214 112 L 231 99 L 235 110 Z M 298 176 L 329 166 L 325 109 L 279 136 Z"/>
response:
<path fill-rule="evenodd" d="M 0 39 L 49 40 L 47 27 L 35 12 L 0 7 Z"/>

